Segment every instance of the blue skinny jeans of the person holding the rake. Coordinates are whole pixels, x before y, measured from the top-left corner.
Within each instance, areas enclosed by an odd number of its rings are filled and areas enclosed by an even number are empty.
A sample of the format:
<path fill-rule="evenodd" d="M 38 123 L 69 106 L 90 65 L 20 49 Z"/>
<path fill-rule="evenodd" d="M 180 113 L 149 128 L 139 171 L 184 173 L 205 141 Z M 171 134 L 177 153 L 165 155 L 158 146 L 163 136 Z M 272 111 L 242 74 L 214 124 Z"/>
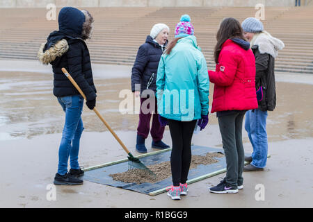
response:
<path fill-rule="evenodd" d="M 58 149 L 58 174 L 67 173 L 67 162 L 70 157 L 70 167 L 79 169 L 79 140 L 83 133 L 83 97 L 80 95 L 58 97 L 65 112 L 65 125 L 63 128 L 61 144 Z"/>

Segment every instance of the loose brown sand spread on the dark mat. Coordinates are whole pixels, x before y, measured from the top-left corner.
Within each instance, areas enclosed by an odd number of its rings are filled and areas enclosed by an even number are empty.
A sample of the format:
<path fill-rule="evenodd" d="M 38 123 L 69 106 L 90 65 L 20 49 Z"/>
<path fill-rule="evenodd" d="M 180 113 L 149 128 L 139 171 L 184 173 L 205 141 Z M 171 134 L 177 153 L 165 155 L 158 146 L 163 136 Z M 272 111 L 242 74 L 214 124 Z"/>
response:
<path fill-rule="evenodd" d="M 200 164 L 208 165 L 218 162 L 214 157 L 223 157 L 221 153 L 207 153 L 207 155 L 193 155 L 191 157 L 190 169 L 195 169 Z M 141 184 L 143 182 L 156 183 L 161 180 L 165 180 L 172 176 L 170 170 L 170 161 L 161 162 L 160 164 L 154 164 L 147 166 L 147 168 L 152 171 L 155 175 L 147 173 L 145 170 L 141 169 L 129 169 L 123 173 L 110 174 L 113 180 L 122 182 L 136 182 L 136 184 Z"/>

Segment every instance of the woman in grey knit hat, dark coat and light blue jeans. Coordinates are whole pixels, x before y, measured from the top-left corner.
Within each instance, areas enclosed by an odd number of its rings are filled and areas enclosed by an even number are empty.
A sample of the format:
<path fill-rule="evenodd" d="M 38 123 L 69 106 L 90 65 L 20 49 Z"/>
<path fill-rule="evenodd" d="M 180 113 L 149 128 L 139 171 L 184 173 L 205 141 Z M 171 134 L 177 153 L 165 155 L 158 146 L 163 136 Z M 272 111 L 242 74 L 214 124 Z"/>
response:
<path fill-rule="evenodd" d="M 255 87 L 259 95 L 259 107 L 246 112 L 245 128 L 253 153 L 245 157 L 250 164 L 243 171 L 260 171 L 266 167 L 268 155 L 266 119 L 268 111 L 273 111 L 276 106 L 275 58 L 284 48 L 284 42 L 266 32 L 262 22 L 254 17 L 245 19 L 241 26 L 255 55 Z"/>

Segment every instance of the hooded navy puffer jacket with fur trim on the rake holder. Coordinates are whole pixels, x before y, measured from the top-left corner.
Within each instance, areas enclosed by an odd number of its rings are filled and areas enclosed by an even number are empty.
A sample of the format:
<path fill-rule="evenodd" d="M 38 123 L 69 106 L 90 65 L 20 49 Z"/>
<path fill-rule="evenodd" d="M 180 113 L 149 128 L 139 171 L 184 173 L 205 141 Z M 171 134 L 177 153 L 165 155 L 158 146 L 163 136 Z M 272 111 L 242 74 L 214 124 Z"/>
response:
<path fill-rule="evenodd" d="M 87 101 L 96 98 L 89 51 L 81 35 L 83 27 L 87 27 L 84 22 L 87 20 L 80 10 L 63 8 L 58 17 L 60 31 L 51 33 L 38 52 L 40 62 L 52 65 L 54 95 L 57 97 L 79 94 L 63 74 L 61 69 L 64 67 L 86 95 Z"/>

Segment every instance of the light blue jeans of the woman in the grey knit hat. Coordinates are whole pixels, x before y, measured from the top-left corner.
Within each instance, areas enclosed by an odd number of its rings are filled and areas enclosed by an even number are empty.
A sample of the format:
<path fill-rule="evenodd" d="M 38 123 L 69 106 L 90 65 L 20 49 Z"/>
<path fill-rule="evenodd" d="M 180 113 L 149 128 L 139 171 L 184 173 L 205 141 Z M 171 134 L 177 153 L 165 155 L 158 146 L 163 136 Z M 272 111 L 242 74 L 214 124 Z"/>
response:
<path fill-rule="evenodd" d="M 259 168 L 266 166 L 267 160 L 267 111 L 249 110 L 246 112 L 245 129 L 253 147 L 251 165 Z"/>

